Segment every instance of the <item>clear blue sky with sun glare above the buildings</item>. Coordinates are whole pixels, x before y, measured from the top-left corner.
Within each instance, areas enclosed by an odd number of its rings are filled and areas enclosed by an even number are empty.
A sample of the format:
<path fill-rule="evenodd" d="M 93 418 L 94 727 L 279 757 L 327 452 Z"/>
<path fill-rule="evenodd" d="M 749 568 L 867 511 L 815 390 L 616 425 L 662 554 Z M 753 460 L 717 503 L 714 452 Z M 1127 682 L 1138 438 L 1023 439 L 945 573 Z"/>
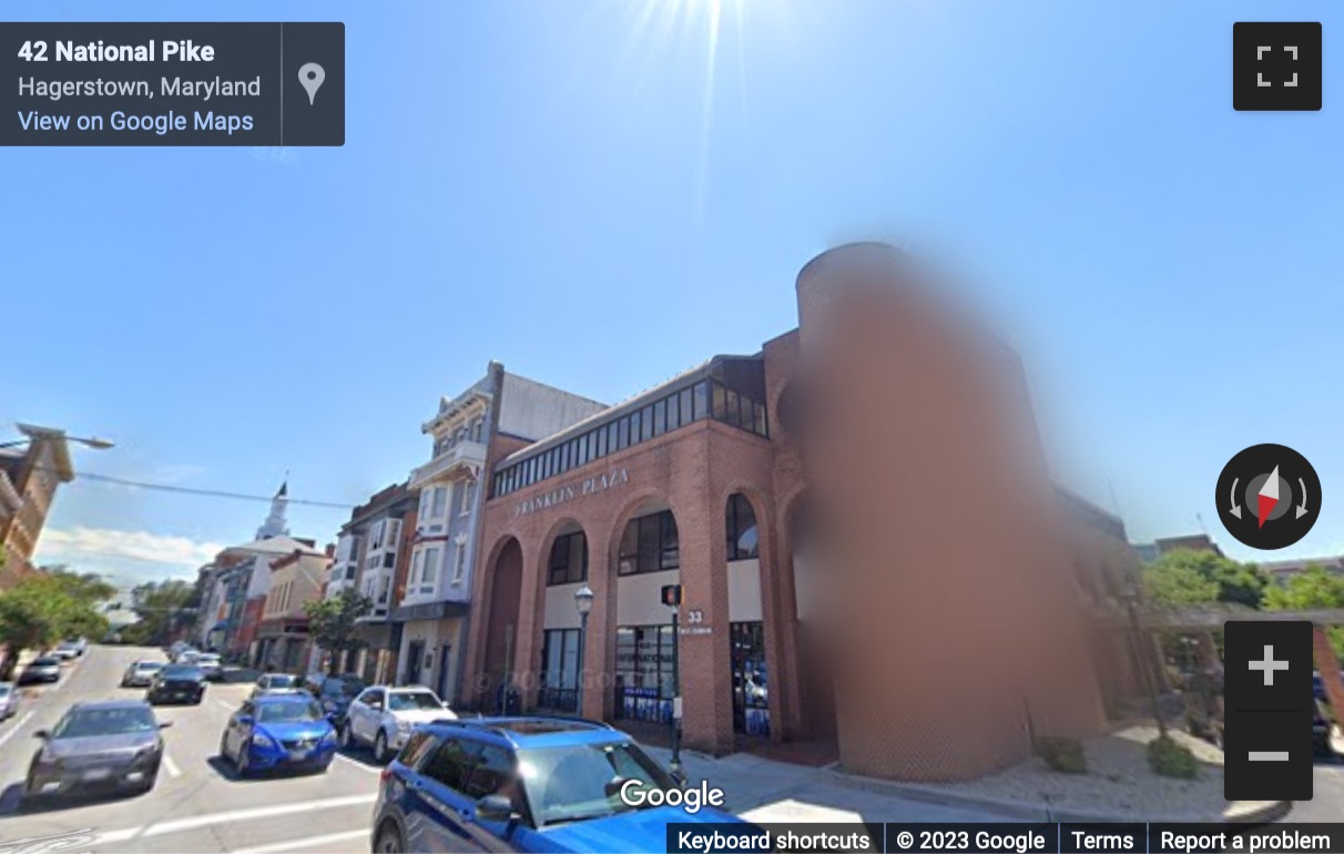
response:
<path fill-rule="evenodd" d="M 353 504 L 425 461 L 419 424 L 489 359 L 616 401 L 755 351 L 794 325 L 808 258 L 878 237 L 1023 352 L 1058 476 L 1113 487 L 1136 539 L 1199 514 L 1254 557 L 1214 480 L 1274 441 L 1327 496 L 1265 557 L 1344 551 L 1337 7 L 1293 5 L 1324 22 L 1325 105 L 1279 114 L 1231 109 L 1231 26 L 1263 4 L 120 8 L 345 22 L 347 144 L 0 151 L 24 319 L 0 422 L 116 438 L 77 451 L 90 472 L 269 495 L 289 471 L 293 496 Z M 77 481 L 43 557 L 183 574 L 265 514 Z M 290 510 L 319 539 L 343 518 Z"/>

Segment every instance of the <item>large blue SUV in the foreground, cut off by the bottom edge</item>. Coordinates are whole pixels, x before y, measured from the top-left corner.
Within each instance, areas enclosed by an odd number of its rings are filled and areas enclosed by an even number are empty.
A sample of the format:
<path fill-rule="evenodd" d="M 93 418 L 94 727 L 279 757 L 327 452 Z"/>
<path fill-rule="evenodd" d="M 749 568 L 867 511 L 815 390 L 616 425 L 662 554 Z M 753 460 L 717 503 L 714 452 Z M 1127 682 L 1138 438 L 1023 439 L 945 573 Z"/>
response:
<path fill-rule="evenodd" d="M 418 726 L 383 771 L 372 850 L 665 851 L 667 824 L 746 822 L 712 807 L 630 806 L 676 781 L 628 734 L 575 718 Z M 659 799 L 661 800 L 661 798 Z"/>

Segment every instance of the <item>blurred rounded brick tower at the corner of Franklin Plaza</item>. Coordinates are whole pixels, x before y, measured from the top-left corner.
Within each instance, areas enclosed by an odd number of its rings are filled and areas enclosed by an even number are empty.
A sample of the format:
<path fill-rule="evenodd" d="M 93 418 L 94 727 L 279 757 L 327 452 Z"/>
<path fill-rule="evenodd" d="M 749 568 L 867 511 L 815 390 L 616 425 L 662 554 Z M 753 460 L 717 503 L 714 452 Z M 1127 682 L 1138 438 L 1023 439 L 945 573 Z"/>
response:
<path fill-rule="evenodd" d="M 798 274 L 804 467 L 825 539 L 841 763 L 956 780 L 1103 720 L 1016 355 L 910 258 Z"/>

